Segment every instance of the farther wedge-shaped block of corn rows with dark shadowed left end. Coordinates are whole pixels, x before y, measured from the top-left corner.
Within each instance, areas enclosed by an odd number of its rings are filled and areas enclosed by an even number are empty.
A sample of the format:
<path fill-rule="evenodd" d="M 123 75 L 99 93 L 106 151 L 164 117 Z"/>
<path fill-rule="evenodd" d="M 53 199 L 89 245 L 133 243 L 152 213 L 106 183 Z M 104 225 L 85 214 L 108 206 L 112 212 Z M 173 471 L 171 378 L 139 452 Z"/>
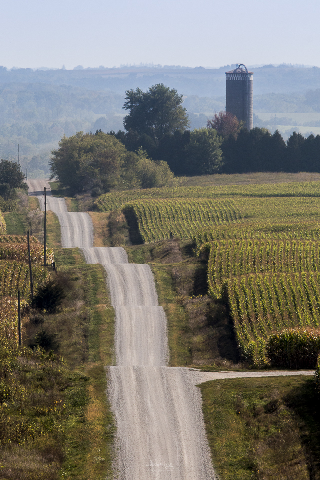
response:
<path fill-rule="evenodd" d="M 170 238 L 191 238 L 201 228 L 241 218 L 230 200 L 209 199 L 142 200 L 123 208 L 133 217 L 144 243 Z"/>

